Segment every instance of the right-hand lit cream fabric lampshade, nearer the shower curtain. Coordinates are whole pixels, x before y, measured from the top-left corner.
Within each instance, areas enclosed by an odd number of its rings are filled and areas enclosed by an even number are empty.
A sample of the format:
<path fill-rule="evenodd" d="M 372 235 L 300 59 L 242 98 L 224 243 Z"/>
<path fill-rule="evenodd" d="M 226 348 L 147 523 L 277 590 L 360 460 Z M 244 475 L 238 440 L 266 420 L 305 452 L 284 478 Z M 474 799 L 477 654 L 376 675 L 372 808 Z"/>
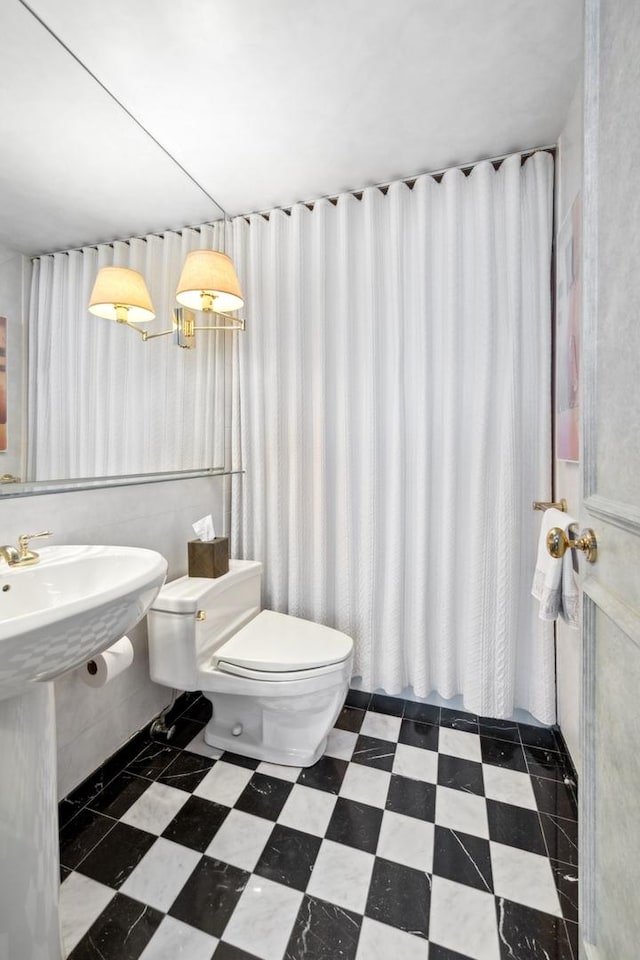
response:
<path fill-rule="evenodd" d="M 176 300 L 190 310 L 239 310 L 244 299 L 231 258 L 218 250 L 193 250 L 187 254 Z"/>

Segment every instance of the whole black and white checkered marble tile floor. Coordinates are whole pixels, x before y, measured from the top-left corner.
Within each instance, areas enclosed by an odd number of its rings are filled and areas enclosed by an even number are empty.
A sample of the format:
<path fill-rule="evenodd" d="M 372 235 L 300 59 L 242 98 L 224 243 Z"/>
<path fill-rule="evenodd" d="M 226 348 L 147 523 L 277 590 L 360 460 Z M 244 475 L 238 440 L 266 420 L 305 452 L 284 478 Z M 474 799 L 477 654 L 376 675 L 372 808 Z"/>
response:
<path fill-rule="evenodd" d="M 71 960 L 577 960 L 553 733 L 351 692 L 305 770 L 207 747 L 183 698 L 61 804 Z"/>

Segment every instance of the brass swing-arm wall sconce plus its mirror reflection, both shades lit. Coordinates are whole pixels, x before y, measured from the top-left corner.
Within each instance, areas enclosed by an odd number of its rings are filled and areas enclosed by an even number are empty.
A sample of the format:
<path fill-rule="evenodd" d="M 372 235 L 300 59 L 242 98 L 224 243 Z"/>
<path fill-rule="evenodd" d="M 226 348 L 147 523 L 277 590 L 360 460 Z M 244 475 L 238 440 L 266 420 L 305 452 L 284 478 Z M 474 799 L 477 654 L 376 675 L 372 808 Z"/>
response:
<path fill-rule="evenodd" d="M 89 312 L 105 320 L 124 323 L 143 340 L 175 333 L 179 347 L 195 346 L 200 330 L 244 330 L 244 320 L 229 316 L 244 305 L 233 262 L 218 250 L 192 250 L 180 274 L 176 289 L 180 304 L 173 311 L 173 326 L 160 333 L 148 333 L 139 323 L 150 323 L 156 314 L 144 277 L 128 267 L 102 267 L 89 299 Z M 215 323 L 197 325 L 195 313 L 212 314 Z"/>

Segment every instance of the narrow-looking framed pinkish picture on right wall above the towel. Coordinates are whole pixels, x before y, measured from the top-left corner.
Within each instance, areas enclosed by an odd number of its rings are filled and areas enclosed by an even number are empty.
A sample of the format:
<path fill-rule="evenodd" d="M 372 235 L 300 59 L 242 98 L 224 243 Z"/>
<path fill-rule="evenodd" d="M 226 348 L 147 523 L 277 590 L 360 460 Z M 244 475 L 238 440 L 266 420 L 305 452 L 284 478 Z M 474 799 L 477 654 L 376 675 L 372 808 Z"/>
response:
<path fill-rule="evenodd" d="M 580 194 L 558 232 L 556 252 L 556 457 L 580 456 Z"/>

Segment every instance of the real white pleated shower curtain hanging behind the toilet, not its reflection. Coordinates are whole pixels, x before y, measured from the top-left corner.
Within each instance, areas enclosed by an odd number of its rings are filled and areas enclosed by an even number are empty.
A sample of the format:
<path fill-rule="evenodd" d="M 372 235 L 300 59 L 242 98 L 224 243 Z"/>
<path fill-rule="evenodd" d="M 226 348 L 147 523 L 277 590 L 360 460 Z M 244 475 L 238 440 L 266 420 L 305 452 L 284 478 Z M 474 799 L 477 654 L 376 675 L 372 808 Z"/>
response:
<path fill-rule="evenodd" d="M 234 555 L 364 689 L 555 720 L 530 596 L 551 477 L 553 159 L 234 221 Z"/>

